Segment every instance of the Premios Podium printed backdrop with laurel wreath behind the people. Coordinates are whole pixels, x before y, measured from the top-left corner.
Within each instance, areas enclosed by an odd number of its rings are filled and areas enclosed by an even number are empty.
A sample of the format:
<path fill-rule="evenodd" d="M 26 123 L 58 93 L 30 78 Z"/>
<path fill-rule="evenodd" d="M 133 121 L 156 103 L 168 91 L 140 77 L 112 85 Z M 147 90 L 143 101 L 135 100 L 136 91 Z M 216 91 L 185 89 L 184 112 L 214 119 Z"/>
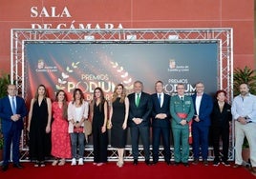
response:
<path fill-rule="evenodd" d="M 72 100 L 75 88 L 83 90 L 86 100 L 92 100 L 96 87 L 106 98 L 118 83 L 127 93 L 140 80 L 144 91 L 155 92 L 157 80 L 164 83 L 166 93 L 176 93 L 179 83 L 186 93 L 195 91 L 202 81 L 205 92 L 218 89 L 218 43 L 70 43 L 26 42 L 26 98 L 32 99 L 37 86 L 47 87 L 54 99 L 57 89 L 64 89 Z"/>

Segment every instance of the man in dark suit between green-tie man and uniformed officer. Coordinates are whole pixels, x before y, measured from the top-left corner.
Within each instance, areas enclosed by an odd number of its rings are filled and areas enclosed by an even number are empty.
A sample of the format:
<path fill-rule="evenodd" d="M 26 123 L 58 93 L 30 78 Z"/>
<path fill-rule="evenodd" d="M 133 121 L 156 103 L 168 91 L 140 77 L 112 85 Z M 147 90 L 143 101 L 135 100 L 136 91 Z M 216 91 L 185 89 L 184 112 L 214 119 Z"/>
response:
<path fill-rule="evenodd" d="M 153 130 L 153 164 L 159 162 L 160 137 L 164 149 L 164 161 L 170 165 L 170 96 L 163 93 L 163 83 L 157 81 L 155 84 L 156 93 L 151 95 L 152 109 L 152 130 Z"/>

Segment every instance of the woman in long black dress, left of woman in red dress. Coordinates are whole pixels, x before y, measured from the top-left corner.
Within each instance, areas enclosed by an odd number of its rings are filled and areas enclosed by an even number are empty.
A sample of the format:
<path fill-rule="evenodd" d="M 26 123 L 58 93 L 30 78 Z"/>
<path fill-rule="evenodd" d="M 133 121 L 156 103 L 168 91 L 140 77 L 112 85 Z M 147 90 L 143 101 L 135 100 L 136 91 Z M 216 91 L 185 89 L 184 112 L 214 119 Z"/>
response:
<path fill-rule="evenodd" d="M 45 167 L 45 157 L 51 154 L 52 102 L 44 85 L 39 85 L 32 98 L 28 131 L 30 157 L 34 167 Z"/>

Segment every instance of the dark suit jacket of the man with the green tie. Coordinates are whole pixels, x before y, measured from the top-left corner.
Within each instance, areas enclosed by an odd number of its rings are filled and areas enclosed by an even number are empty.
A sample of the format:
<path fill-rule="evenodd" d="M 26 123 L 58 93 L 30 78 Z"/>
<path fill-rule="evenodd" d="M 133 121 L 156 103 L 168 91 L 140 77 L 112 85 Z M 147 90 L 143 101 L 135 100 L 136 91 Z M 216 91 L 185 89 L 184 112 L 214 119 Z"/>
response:
<path fill-rule="evenodd" d="M 133 118 L 141 118 L 142 122 L 139 126 L 150 126 L 150 117 L 152 110 L 152 100 L 148 93 L 141 92 L 139 99 L 139 107 L 135 104 L 135 92 L 128 95 L 130 108 L 129 108 L 129 117 L 128 125 L 129 127 L 135 127 L 137 124 L 133 121 Z"/>

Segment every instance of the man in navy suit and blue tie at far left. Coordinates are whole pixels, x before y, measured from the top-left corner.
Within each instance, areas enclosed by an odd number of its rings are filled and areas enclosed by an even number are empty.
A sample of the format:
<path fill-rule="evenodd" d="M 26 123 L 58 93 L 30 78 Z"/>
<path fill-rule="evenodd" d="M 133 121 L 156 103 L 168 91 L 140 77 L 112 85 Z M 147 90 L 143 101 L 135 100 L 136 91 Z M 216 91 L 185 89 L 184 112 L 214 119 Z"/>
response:
<path fill-rule="evenodd" d="M 19 144 L 21 131 L 23 129 L 23 118 L 28 111 L 23 98 L 16 96 L 17 89 L 14 85 L 8 86 L 8 96 L 0 100 L 0 118 L 2 121 L 2 132 L 4 137 L 4 161 L 2 170 L 9 168 L 11 159 L 13 168 L 22 169 L 19 163 Z"/>

